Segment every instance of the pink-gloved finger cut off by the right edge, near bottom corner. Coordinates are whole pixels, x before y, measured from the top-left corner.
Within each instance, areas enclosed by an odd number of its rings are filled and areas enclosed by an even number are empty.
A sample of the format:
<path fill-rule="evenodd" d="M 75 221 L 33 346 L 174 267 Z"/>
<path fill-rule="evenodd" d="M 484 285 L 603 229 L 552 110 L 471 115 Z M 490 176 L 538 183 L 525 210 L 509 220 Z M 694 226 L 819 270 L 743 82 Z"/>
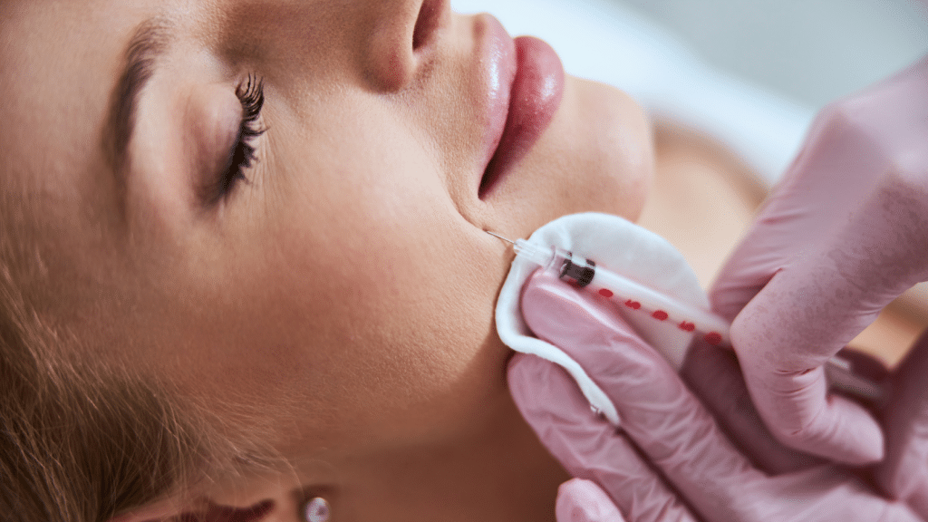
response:
<path fill-rule="evenodd" d="M 928 519 L 928 332 L 893 376 L 893 397 L 884 414 L 886 458 L 877 480 L 887 494 L 904 499 Z"/>

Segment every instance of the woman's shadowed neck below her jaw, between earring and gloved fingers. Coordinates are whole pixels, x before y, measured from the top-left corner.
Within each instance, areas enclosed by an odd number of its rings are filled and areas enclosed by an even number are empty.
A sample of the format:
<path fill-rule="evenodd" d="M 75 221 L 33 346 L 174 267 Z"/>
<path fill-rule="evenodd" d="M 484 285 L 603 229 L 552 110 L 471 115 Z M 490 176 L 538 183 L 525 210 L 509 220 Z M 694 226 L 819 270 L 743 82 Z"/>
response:
<path fill-rule="evenodd" d="M 509 395 L 497 402 L 476 434 L 364 459 L 358 479 L 371 498 L 352 502 L 363 511 L 354 519 L 553 522 L 557 488 L 569 476 Z"/>

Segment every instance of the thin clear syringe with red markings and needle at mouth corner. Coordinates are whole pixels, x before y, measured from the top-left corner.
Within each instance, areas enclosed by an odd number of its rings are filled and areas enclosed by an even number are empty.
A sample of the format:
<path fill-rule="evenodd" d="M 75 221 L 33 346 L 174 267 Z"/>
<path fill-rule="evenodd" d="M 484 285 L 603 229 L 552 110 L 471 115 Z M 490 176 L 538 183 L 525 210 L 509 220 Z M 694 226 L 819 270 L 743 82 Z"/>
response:
<path fill-rule="evenodd" d="M 730 323 L 710 310 L 683 303 L 638 281 L 597 267 L 595 262 L 574 256 L 560 247 L 545 248 L 522 239 L 512 241 L 489 230 L 486 233 L 508 241 L 518 257 L 556 270 L 561 280 L 574 286 L 612 299 L 632 312 L 649 314 L 652 320 L 674 324 L 684 332 L 698 333 L 710 345 L 731 346 Z M 854 373 L 850 361 L 834 356 L 828 362 L 825 370 L 832 387 L 870 401 L 883 400 L 883 387 Z"/>

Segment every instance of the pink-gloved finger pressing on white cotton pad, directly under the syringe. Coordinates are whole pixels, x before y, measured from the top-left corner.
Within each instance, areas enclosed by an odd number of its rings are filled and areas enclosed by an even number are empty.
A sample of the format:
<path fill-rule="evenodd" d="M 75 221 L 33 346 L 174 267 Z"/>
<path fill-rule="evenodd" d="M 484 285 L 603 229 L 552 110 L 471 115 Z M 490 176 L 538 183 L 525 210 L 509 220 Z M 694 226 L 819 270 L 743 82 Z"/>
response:
<path fill-rule="evenodd" d="M 522 316 L 612 398 L 628 437 L 702 515 L 714 518 L 739 491 L 763 480 L 610 302 L 541 272 L 522 292 Z"/>

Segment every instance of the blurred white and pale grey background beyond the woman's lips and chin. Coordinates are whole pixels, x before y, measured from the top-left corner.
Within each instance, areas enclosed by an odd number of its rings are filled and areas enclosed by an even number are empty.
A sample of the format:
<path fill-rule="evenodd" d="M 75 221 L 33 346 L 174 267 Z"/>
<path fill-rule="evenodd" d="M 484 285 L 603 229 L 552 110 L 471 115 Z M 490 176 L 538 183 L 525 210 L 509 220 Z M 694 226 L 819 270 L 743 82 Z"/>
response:
<path fill-rule="evenodd" d="M 698 129 L 771 186 L 816 112 L 928 54 L 928 0 L 452 0 Z"/>

